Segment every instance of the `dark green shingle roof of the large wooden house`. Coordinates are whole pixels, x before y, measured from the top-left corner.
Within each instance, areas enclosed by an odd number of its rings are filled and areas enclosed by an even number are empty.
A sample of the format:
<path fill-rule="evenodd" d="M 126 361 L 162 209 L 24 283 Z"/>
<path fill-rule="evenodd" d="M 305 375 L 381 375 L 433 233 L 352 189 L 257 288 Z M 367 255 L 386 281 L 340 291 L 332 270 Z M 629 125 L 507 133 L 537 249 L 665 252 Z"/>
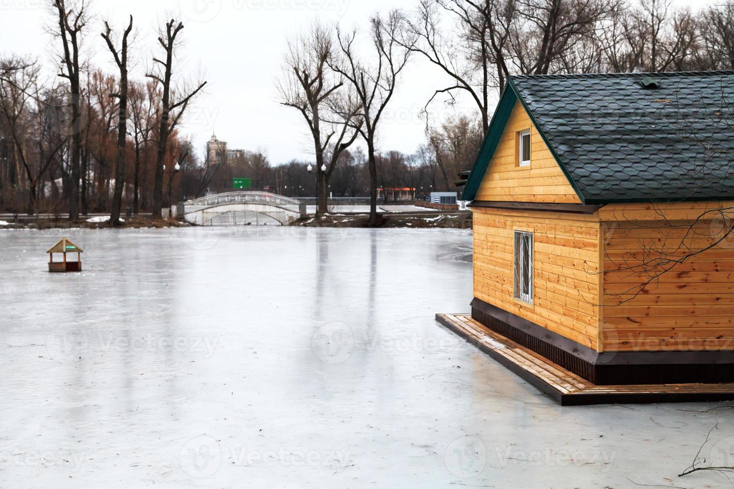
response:
<path fill-rule="evenodd" d="M 585 204 L 734 199 L 734 71 L 513 76 L 464 199 L 518 99 Z"/>

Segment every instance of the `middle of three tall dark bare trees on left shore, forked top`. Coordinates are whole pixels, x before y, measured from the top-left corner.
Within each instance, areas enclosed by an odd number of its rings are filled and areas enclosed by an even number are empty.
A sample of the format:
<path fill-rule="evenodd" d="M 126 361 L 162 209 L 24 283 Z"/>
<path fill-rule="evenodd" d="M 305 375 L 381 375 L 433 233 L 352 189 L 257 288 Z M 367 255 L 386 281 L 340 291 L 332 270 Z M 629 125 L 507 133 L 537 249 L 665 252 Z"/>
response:
<path fill-rule="evenodd" d="M 109 52 L 115 59 L 115 65 L 120 70 L 120 89 L 111 96 L 117 98 L 120 104 L 120 114 L 117 117 L 117 161 L 115 163 L 115 194 L 112 196 L 112 211 L 109 215 L 109 224 L 112 226 L 120 226 L 120 207 L 123 201 L 123 188 L 125 185 L 125 146 L 127 141 L 127 125 L 128 125 L 128 36 L 133 30 L 133 16 L 130 16 L 130 23 L 123 32 L 122 45 L 120 51 L 115 48 L 112 42 L 112 29 L 109 23 L 104 23 L 105 32 L 101 35 L 107 43 Z"/>

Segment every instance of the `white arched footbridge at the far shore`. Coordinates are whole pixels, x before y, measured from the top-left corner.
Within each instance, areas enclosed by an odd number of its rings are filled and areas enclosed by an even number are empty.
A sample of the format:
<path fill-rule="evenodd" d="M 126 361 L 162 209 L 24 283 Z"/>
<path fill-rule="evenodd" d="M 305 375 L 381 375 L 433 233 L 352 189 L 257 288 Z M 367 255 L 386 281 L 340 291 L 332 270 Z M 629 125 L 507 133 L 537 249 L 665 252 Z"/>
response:
<path fill-rule="evenodd" d="M 227 192 L 183 202 L 183 219 L 205 226 L 217 216 L 235 211 L 261 213 L 286 225 L 306 215 L 306 205 L 269 192 Z"/>

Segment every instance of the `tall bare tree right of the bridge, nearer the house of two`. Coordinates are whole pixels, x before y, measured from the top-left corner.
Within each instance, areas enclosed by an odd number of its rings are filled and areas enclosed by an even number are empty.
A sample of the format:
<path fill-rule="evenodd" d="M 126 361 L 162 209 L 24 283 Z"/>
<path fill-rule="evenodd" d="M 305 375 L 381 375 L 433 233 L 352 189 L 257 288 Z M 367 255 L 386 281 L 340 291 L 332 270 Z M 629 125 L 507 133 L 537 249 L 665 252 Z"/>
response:
<path fill-rule="evenodd" d="M 398 76 L 410 58 L 410 40 L 398 42 L 401 26 L 399 12 L 390 12 L 387 18 L 379 15 L 370 19 L 371 42 L 374 46 L 375 62 L 364 65 L 357 57 L 355 40 L 357 32 L 344 34 L 337 29 L 341 53 L 330 66 L 341 73 L 355 89 L 360 106 L 359 132 L 367 144 L 367 163 L 370 181 L 370 215 L 368 223 L 377 222 L 377 166 L 375 164 L 375 137 L 377 128 L 395 93 Z"/>

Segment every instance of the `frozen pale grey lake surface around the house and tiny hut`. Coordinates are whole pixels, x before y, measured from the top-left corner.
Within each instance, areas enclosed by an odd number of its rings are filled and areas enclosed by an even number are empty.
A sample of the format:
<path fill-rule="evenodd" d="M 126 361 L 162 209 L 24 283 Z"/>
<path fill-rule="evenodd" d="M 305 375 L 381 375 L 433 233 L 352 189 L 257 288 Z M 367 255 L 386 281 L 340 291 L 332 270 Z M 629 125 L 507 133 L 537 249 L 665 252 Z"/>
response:
<path fill-rule="evenodd" d="M 62 235 L 83 273 L 46 271 Z M 468 231 L 0 246 L 0 488 L 732 485 L 677 477 L 717 425 L 702 465 L 734 465 L 727 403 L 562 408 L 439 326 L 469 309 Z"/>

